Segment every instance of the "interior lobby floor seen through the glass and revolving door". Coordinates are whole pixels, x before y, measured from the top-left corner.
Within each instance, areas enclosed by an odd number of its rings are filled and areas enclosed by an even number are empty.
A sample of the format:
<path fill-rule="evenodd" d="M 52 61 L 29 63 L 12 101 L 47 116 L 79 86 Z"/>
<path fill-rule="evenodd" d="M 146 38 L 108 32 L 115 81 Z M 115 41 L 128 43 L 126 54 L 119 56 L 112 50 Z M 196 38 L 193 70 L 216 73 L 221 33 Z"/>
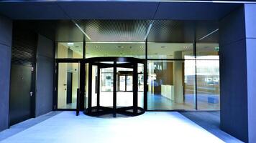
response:
<path fill-rule="evenodd" d="M 147 109 L 149 110 L 175 110 L 175 109 L 195 109 L 194 94 L 186 94 L 183 103 L 175 103 L 160 94 L 147 93 Z M 214 97 L 211 95 L 211 97 Z M 116 105 L 118 107 L 132 106 L 132 92 L 117 92 Z M 208 95 L 198 94 L 198 109 L 219 109 L 219 103 L 207 101 Z M 215 96 L 214 98 L 219 98 Z M 96 106 L 96 94 L 93 95 L 92 106 Z M 100 104 L 104 107 L 113 105 L 113 93 L 101 92 Z M 143 107 L 143 92 L 138 92 L 138 106 Z M 76 102 L 65 104 L 60 109 L 76 109 Z"/>

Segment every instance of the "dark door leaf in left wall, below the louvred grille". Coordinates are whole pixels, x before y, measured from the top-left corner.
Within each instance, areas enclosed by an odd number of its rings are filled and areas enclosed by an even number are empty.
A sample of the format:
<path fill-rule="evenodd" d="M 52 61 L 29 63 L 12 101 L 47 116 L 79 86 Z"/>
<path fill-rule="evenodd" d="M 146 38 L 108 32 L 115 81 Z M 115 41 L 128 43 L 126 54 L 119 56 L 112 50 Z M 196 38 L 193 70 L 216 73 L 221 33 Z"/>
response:
<path fill-rule="evenodd" d="M 16 124 L 32 117 L 32 67 L 12 64 L 10 92 L 10 124 Z"/>

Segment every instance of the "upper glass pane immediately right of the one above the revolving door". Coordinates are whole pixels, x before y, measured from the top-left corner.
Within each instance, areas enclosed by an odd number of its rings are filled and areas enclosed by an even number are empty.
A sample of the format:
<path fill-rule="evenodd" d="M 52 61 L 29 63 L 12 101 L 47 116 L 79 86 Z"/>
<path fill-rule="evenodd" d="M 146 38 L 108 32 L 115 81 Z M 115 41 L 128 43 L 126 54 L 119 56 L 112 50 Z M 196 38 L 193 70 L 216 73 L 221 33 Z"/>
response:
<path fill-rule="evenodd" d="M 185 59 L 193 56 L 193 43 L 155 43 L 149 42 L 148 59 Z"/>

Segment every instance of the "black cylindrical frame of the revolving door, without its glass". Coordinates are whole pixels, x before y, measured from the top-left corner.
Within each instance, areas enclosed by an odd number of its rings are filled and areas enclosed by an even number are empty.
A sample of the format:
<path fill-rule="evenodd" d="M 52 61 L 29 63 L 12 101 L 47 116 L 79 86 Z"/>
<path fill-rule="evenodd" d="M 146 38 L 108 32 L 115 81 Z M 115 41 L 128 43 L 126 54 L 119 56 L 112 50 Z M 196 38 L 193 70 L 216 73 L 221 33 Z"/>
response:
<path fill-rule="evenodd" d="M 102 63 L 104 61 L 111 61 L 113 64 Z M 119 62 L 122 62 L 119 64 Z M 124 57 L 97 57 L 90 58 L 88 63 L 88 107 L 84 109 L 84 113 L 90 116 L 101 116 L 104 114 L 113 114 L 113 117 L 116 117 L 116 114 L 123 114 L 127 116 L 137 116 L 143 114 L 145 112 L 145 107 L 147 107 L 147 102 L 145 101 L 145 97 L 147 96 L 146 88 L 147 88 L 147 79 L 146 77 L 146 66 L 147 64 L 143 59 L 136 58 L 124 58 Z M 138 107 L 138 64 L 144 65 L 144 108 Z M 96 82 L 96 96 L 97 103 L 96 106 L 92 107 L 92 67 L 93 65 L 97 66 L 97 82 Z M 133 105 L 130 107 L 116 107 L 116 92 L 117 92 L 117 79 L 116 79 L 116 69 L 117 68 L 129 68 L 133 69 L 132 74 L 132 93 L 133 93 Z M 100 69 L 102 68 L 113 68 L 113 107 L 102 107 L 100 105 Z M 147 98 L 147 97 L 146 97 Z M 131 112 L 132 111 L 132 112 Z"/>

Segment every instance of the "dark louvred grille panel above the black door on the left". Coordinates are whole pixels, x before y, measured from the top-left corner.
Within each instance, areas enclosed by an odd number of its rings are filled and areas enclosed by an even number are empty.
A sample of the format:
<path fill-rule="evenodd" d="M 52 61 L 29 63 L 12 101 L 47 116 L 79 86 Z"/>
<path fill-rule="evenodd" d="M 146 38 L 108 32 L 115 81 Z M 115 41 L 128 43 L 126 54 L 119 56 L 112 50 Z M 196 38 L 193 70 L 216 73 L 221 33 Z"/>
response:
<path fill-rule="evenodd" d="M 12 39 L 12 63 L 32 66 L 37 48 L 37 34 L 14 26 Z"/>

